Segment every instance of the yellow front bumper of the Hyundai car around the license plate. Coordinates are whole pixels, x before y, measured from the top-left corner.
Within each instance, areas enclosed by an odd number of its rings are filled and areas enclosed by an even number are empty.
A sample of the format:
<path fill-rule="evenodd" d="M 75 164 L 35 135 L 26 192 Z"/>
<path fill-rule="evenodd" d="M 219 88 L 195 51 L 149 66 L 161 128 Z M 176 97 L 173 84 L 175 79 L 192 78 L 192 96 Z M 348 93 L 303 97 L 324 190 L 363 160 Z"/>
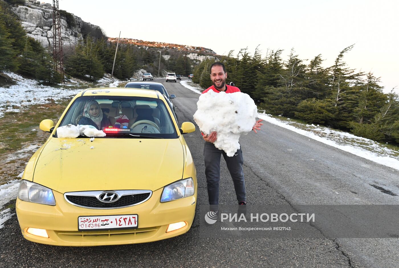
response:
<path fill-rule="evenodd" d="M 57 246 L 102 246 L 152 242 L 178 236 L 190 230 L 197 193 L 170 202 L 160 202 L 163 189 L 152 193 L 147 201 L 136 206 L 117 209 L 90 209 L 74 206 L 65 201 L 63 194 L 53 191 L 55 206 L 36 204 L 17 198 L 16 212 L 21 232 L 27 240 Z M 138 214 L 138 228 L 79 231 L 79 216 L 109 216 Z M 166 232 L 168 225 L 186 222 L 186 226 Z M 26 232 L 27 228 L 45 229 L 49 238 Z"/>

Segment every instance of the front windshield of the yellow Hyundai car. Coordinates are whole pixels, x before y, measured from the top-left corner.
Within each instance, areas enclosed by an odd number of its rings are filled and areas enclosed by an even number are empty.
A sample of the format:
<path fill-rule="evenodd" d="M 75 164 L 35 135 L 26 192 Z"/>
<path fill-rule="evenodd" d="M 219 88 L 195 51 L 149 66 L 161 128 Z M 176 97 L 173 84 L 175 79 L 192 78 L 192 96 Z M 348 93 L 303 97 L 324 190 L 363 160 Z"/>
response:
<path fill-rule="evenodd" d="M 79 97 L 72 103 L 59 127 L 69 124 L 79 127 L 91 125 L 89 128 L 93 131 L 102 130 L 105 138 L 178 137 L 164 102 L 148 97 Z"/>

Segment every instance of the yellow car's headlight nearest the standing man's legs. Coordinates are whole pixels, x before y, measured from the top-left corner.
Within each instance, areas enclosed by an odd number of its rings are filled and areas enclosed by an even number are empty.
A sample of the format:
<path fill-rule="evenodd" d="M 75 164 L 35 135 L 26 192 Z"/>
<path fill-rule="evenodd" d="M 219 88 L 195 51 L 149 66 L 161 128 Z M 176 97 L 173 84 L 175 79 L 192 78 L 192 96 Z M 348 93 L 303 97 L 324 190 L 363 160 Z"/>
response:
<path fill-rule="evenodd" d="M 194 195 L 194 181 L 193 178 L 188 178 L 166 185 L 164 191 L 162 191 L 161 202 L 173 201 L 192 195 Z"/>

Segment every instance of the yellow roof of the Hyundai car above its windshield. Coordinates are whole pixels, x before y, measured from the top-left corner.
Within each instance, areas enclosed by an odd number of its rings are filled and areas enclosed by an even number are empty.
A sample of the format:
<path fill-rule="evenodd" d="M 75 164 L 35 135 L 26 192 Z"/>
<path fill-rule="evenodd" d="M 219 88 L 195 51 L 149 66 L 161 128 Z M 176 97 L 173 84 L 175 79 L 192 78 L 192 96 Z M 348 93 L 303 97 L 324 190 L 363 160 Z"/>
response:
<path fill-rule="evenodd" d="M 128 96 L 128 97 L 149 97 L 155 99 L 163 99 L 163 95 L 156 90 L 135 88 L 130 90 L 126 87 L 97 87 L 88 88 L 80 91 L 76 95 L 81 96 Z"/>

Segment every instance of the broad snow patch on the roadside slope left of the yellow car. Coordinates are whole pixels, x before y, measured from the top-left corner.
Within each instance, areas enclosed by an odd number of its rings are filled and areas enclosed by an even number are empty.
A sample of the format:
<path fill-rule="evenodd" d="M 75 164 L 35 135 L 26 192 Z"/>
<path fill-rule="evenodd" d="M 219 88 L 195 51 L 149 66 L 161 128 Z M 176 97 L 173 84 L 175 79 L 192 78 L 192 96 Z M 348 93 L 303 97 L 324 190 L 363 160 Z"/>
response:
<path fill-rule="evenodd" d="M 0 87 L 0 117 L 3 117 L 6 112 L 20 111 L 23 109 L 22 105 L 49 103 L 50 101 L 47 100 L 49 98 L 59 100 L 73 96 L 81 91 L 80 89 L 40 85 L 36 80 L 26 79 L 12 72 L 4 72 L 4 74 L 16 80 L 17 84 L 8 88 Z"/>

